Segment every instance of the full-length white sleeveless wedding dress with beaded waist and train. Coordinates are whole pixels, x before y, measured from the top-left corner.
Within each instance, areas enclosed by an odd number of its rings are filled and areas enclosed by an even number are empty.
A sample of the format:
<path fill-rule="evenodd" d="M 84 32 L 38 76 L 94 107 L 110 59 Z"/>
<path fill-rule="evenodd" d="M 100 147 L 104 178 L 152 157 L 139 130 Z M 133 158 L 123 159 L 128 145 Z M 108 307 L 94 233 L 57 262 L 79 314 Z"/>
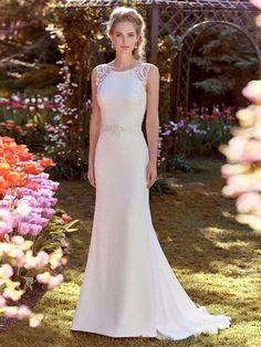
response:
<path fill-rule="evenodd" d="M 157 239 L 146 187 L 148 147 L 142 132 L 152 64 L 97 70 L 102 127 L 95 150 L 95 211 L 72 330 L 111 337 L 182 339 L 217 334 L 231 317 L 189 298 Z M 191 250 L 192 251 L 192 250 Z"/>

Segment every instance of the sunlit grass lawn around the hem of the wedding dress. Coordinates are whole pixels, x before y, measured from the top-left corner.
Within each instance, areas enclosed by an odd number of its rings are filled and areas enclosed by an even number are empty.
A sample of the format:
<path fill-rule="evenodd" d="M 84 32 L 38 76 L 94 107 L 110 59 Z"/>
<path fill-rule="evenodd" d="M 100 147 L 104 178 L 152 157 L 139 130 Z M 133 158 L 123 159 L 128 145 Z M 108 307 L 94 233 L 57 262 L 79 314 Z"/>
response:
<path fill-rule="evenodd" d="M 90 245 L 95 190 L 87 182 L 61 182 L 60 207 L 81 220 L 72 238 L 65 281 L 34 307 L 45 318 L 38 328 L 27 322 L 1 333 L 1 345 L 18 346 L 261 346 L 260 236 L 234 220 L 234 201 L 220 191 L 220 160 L 191 159 L 198 174 L 175 174 L 175 196 L 150 196 L 154 227 L 161 248 L 186 292 L 212 314 L 232 317 L 230 328 L 215 336 L 169 341 L 112 338 L 70 330 Z"/>

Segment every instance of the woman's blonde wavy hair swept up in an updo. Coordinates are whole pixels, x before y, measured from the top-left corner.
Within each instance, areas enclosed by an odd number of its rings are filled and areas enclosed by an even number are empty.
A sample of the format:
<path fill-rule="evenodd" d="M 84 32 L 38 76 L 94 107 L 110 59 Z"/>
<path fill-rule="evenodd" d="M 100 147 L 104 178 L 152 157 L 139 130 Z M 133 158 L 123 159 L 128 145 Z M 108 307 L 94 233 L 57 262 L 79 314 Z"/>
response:
<path fill-rule="evenodd" d="M 138 41 L 137 49 L 134 48 L 133 50 L 133 56 L 138 61 L 145 61 L 145 45 L 147 41 L 145 36 L 146 24 L 143 17 L 133 8 L 115 8 L 106 23 L 106 35 L 109 38 L 109 35 L 113 34 L 116 24 L 122 22 L 132 22 L 134 24 Z"/>

